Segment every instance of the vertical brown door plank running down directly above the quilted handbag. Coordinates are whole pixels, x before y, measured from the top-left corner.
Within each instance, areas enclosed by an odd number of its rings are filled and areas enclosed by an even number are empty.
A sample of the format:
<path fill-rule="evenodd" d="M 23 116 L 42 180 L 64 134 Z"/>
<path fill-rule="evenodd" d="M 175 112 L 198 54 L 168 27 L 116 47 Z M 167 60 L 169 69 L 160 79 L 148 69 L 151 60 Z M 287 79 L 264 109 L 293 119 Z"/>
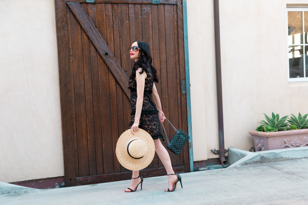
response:
<path fill-rule="evenodd" d="M 177 111 L 177 83 L 176 83 L 176 51 L 174 36 L 174 11 L 172 5 L 164 5 L 165 7 L 165 35 L 166 35 L 166 59 L 167 59 L 167 81 L 168 81 L 168 105 L 169 120 L 178 127 L 178 111 Z M 176 133 L 170 128 L 170 138 Z"/>

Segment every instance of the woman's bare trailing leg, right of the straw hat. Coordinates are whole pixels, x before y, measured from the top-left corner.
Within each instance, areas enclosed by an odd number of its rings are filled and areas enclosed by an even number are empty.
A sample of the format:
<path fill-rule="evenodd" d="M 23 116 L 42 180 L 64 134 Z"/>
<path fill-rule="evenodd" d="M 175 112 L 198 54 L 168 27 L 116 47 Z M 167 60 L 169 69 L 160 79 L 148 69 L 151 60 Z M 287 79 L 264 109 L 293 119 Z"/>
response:
<path fill-rule="evenodd" d="M 164 164 L 167 174 L 174 174 L 175 172 L 173 171 L 172 165 L 171 165 L 171 160 L 169 153 L 167 152 L 166 148 L 162 145 L 159 139 L 154 140 L 155 144 L 155 151 L 160 159 L 160 161 Z M 169 175 L 168 176 L 168 184 L 169 184 L 169 189 L 172 190 L 175 182 L 177 180 L 176 175 Z M 165 189 L 167 191 L 167 189 Z"/>

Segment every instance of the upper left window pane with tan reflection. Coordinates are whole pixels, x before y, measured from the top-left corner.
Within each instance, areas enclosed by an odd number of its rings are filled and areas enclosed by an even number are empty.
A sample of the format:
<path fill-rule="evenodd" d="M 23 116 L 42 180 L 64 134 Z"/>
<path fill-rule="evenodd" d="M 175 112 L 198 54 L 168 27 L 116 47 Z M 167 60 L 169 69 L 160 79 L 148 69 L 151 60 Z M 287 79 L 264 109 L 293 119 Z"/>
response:
<path fill-rule="evenodd" d="M 289 11 L 288 18 L 288 44 L 303 43 L 303 12 Z M 292 40 L 292 41 L 291 41 Z"/>

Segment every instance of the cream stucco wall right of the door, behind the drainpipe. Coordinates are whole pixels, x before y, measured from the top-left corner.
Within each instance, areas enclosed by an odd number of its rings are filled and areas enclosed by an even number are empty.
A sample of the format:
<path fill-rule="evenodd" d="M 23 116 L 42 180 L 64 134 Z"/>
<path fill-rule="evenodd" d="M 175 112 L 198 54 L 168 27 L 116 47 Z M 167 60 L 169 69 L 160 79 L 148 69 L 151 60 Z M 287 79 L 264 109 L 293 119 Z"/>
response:
<path fill-rule="evenodd" d="M 286 3 L 220 0 L 225 147 L 249 150 L 265 114 L 308 113 L 308 82 L 288 82 Z M 213 0 L 187 0 L 194 161 L 219 148 Z"/>

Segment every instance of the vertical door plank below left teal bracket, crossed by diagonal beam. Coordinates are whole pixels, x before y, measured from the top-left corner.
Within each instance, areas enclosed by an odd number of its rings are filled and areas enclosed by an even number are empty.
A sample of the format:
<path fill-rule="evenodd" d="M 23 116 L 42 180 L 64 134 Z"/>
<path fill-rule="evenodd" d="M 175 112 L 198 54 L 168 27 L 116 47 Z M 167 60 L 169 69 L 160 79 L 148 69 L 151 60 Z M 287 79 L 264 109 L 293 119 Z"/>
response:
<path fill-rule="evenodd" d="M 96 24 L 94 3 L 88 4 L 88 16 L 90 20 L 93 22 L 93 24 Z M 97 59 L 97 50 L 91 41 L 90 41 L 90 57 L 91 57 L 92 93 L 93 93 L 96 171 L 97 174 L 104 174 L 100 98 L 99 98 L 100 92 L 99 92 L 98 59 Z"/>

